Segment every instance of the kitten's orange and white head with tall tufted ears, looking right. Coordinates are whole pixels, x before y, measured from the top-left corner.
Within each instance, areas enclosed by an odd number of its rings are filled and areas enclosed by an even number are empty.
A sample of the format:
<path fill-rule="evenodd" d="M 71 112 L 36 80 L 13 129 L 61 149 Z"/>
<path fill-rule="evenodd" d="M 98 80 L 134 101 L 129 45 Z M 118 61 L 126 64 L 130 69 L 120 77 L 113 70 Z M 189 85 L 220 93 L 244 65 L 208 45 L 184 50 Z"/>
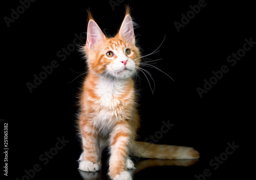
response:
<path fill-rule="evenodd" d="M 90 73 L 117 79 L 131 79 L 136 73 L 140 52 L 135 45 L 132 17 L 129 11 L 115 37 L 108 38 L 90 18 L 87 42 L 83 47 Z"/>

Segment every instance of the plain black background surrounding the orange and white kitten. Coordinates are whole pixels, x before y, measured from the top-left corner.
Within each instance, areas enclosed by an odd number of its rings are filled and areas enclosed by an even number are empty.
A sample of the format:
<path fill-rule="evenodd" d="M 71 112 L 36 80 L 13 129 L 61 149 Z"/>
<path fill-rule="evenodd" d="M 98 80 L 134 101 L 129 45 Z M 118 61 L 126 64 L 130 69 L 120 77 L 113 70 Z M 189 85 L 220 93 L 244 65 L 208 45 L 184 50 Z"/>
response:
<path fill-rule="evenodd" d="M 201 155 L 190 167 L 150 167 L 136 173 L 134 179 L 196 179 L 195 174 L 205 169 L 211 172 L 206 179 L 248 177 L 254 157 L 252 62 L 256 47 L 234 66 L 227 57 L 243 48 L 245 38 L 256 41 L 255 9 L 245 1 L 205 1 L 206 6 L 178 32 L 174 22 L 181 22 L 181 14 L 198 2 L 123 1 L 113 10 L 110 1 L 36 1 L 9 28 L 4 17 L 11 17 L 11 9 L 16 10 L 20 3 L 2 2 L 1 141 L 4 123 L 8 123 L 9 153 L 8 177 L 2 168 L 1 178 L 22 179 L 25 170 L 38 164 L 41 169 L 31 179 L 82 179 L 76 162 L 81 148 L 75 131 L 75 96 L 85 63 L 77 47 L 64 61 L 57 52 L 73 43 L 75 34 L 87 31 L 89 8 L 102 31 L 115 35 L 126 4 L 132 7 L 131 15 L 139 24 L 135 34 L 143 55 L 152 53 L 165 37 L 160 52 L 144 60 L 162 58 L 153 65 L 175 80 L 143 67 L 151 72 L 155 91 L 153 95 L 140 73 L 140 140 L 155 135 L 162 121 L 169 120 L 175 125 L 157 143 L 192 146 Z M 33 75 L 39 75 L 42 66 L 54 60 L 59 66 L 31 93 L 27 83 L 33 83 Z M 203 88 L 204 79 L 209 80 L 212 71 L 221 70 L 223 65 L 229 71 L 200 98 L 197 88 Z M 147 77 L 153 88 L 152 79 Z M 69 142 L 44 165 L 46 161 L 39 157 L 62 137 Z M 214 170 L 209 162 L 225 152 L 228 142 L 239 148 Z M 0 162 L 4 163 L 2 157 Z M 107 168 L 105 165 L 102 172 L 105 179 Z"/>

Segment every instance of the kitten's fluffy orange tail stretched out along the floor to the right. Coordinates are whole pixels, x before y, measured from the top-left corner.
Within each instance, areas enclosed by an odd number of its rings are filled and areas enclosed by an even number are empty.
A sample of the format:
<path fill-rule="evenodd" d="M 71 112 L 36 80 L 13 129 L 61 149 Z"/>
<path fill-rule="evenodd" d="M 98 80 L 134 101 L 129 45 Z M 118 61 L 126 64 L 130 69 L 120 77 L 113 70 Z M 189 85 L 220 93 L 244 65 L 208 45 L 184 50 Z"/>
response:
<path fill-rule="evenodd" d="M 152 159 L 198 159 L 199 152 L 193 147 L 159 145 L 134 141 L 132 155 Z"/>

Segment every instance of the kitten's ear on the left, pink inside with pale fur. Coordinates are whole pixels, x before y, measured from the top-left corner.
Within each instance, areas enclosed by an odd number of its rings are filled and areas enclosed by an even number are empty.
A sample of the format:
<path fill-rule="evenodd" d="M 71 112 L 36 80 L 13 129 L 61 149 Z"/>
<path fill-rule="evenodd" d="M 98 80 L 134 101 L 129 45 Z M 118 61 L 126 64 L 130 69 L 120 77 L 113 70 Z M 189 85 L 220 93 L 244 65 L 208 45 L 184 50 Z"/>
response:
<path fill-rule="evenodd" d="M 87 28 L 86 45 L 91 49 L 96 43 L 105 39 L 105 35 L 100 30 L 98 24 L 94 20 L 90 20 Z"/>

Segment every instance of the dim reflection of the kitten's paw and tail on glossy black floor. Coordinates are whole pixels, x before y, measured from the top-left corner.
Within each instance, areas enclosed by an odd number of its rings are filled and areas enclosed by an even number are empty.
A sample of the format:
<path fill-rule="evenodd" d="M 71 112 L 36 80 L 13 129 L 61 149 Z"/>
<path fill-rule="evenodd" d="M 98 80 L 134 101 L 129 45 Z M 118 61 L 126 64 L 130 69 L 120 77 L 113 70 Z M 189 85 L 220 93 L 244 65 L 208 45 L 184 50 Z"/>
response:
<path fill-rule="evenodd" d="M 129 170 L 131 175 L 135 175 L 136 173 L 146 169 L 148 167 L 155 166 L 191 166 L 195 164 L 198 160 L 159 160 L 159 159 L 148 159 L 143 161 L 138 161 L 135 163 L 134 170 Z M 79 173 L 83 180 L 108 180 L 109 177 L 106 173 L 102 171 L 98 172 L 84 172 L 79 170 Z"/>

